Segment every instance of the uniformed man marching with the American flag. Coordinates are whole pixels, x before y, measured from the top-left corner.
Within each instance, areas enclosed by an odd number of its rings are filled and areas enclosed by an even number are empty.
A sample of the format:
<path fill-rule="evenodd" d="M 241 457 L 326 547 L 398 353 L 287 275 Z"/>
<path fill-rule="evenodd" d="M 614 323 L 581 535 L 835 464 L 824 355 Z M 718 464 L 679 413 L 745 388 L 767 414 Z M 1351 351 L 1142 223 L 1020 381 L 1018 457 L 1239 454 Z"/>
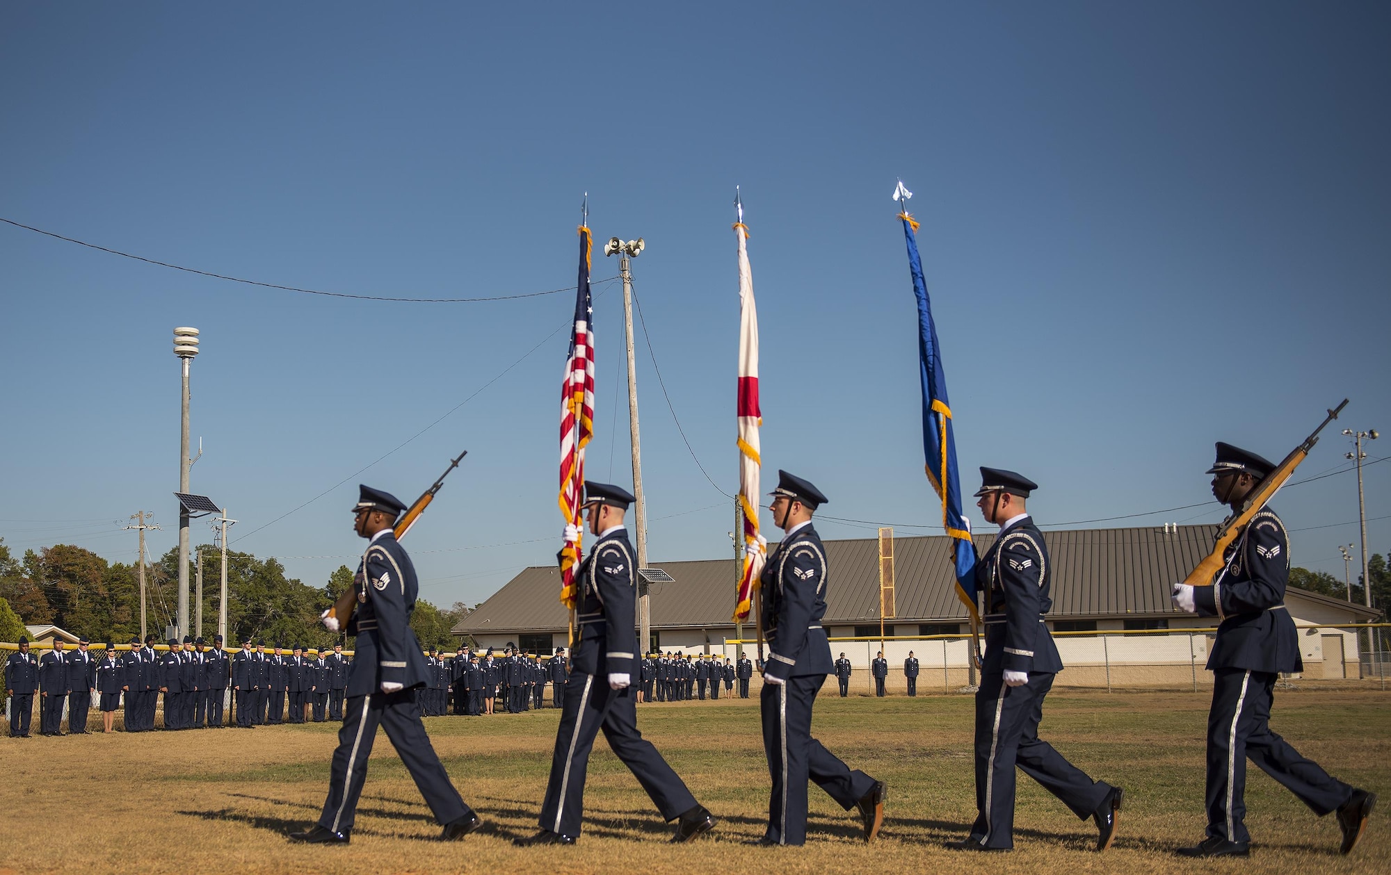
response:
<path fill-rule="evenodd" d="M 637 636 L 637 569 L 623 514 L 633 496 L 606 483 L 584 485 L 587 528 L 595 536 L 590 554 L 576 569 L 574 617 L 579 643 L 565 685 L 561 725 L 555 733 L 551 778 L 541 803 L 541 831 L 519 844 L 573 844 L 580 835 L 584 778 L 594 736 L 604 738 L 637 778 L 662 819 L 677 821 L 672 842 L 687 842 L 715 826 L 715 818 L 696 801 L 662 754 L 637 731 L 633 693 Z M 576 526 L 565 540 L 577 544 Z"/>

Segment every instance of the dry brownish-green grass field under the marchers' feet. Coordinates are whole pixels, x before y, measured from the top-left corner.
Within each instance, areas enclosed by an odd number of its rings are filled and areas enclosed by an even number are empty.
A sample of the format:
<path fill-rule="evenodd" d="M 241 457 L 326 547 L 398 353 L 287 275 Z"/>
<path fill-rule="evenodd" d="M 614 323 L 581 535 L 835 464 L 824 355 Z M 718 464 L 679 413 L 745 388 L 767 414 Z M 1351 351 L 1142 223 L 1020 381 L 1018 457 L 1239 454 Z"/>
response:
<path fill-rule="evenodd" d="M 1333 817 L 1314 818 L 1259 769 L 1246 803 L 1246 861 L 1181 861 L 1203 835 L 1207 700 L 1192 693 L 1049 697 L 1043 735 L 1095 778 L 1125 788 L 1120 838 L 1091 850 L 1091 822 L 1020 776 L 1015 850 L 961 854 L 942 843 L 974 817 L 971 699 L 821 699 L 817 735 L 851 767 L 889 783 L 881 839 L 815 786 L 805 847 L 755 849 L 768 772 L 757 699 L 644 706 L 638 725 L 696 796 L 715 831 L 673 847 L 647 796 L 608 751 L 590 764 L 586 828 L 561 849 L 517 849 L 536 829 L 558 711 L 437 717 L 426 726 L 455 785 L 487 828 L 456 843 L 440 832 L 384 735 L 348 847 L 285 835 L 314 821 L 328 783 L 334 724 L 81 738 L 0 738 L 0 874 L 13 872 L 1384 872 L 1391 871 L 1391 694 L 1278 690 L 1273 726 L 1344 781 L 1384 797 L 1351 857 Z M 96 721 L 100 732 L 100 721 Z"/>

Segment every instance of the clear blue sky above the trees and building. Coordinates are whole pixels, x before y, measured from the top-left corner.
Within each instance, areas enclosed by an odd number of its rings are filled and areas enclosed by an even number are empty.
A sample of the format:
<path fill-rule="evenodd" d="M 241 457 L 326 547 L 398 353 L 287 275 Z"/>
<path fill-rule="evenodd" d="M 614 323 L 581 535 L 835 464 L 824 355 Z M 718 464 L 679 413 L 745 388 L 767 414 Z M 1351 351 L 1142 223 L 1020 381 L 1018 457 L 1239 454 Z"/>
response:
<path fill-rule="evenodd" d="M 903 178 L 963 486 L 1018 469 L 1042 524 L 1095 519 L 1200 503 L 1214 440 L 1278 460 L 1345 396 L 1338 429 L 1391 429 L 1388 39 L 1373 3 L 8 3 L 0 215 L 270 283 L 479 297 L 573 283 L 588 192 L 598 242 L 647 240 L 634 286 L 666 394 L 732 492 L 737 183 L 765 481 L 791 469 L 826 514 L 907 535 L 938 510 Z M 597 251 L 594 278 L 613 261 Z M 629 483 L 620 292 L 595 293 L 588 474 Z M 409 500 L 467 449 L 409 538 L 421 594 L 479 601 L 554 560 L 568 293 L 317 297 L 0 225 L 0 300 L 11 547 L 134 561 L 136 510 L 164 526 L 153 553 L 175 543 L 171 329 L 193 325 L 193 490 L 242 521 L 234 547 L 321 583 L 359 549 L 359 481 Z M 641 328 L 637 385 L 652 558 L 729 556 L 730 501 Z M 1346 450 L 1327 433 L 1299 476 Z M 1366 469 L 1381 553 L 1388 483 Z M 1341 578 L 1353 475 L 1276 507 L 1294 561 Z"/>

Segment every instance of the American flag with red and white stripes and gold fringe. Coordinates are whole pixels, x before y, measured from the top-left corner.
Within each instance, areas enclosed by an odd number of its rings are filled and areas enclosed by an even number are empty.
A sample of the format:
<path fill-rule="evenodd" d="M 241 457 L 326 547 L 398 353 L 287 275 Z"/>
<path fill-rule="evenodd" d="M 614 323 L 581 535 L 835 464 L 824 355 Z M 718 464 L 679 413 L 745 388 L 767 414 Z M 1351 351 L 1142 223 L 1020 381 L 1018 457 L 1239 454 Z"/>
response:
<path fill-rule="evenodd" d="M 594 240 L 580 225 L 580 282 L 574 293 L 574 329 L 570 356 L 561 385 L 561 512 L 565 522 L 580 528 L 584 500 L 584 444 L 594 436 L 594 301 L 590 297 L 590 256 Z M 561 549 L 561 601 L 574 607 L 574 575 L 580 564 L 580 542 Z"/>

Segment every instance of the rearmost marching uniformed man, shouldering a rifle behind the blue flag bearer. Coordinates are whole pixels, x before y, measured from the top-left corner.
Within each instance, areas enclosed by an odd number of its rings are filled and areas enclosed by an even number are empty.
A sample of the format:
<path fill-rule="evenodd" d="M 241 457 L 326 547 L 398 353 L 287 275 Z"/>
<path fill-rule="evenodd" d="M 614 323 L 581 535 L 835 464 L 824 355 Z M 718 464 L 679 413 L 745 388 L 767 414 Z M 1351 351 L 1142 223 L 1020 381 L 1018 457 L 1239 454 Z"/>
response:
<path fill-rule="evenodd" d="M 1213 496 L 1241 511 L 1246 496 L 1276 465 L 1230 443 L 1217 444 Z M 1323 817 L 1338 812 L 1340 853 L 1358 843 L 1377 797 L 1323 771 L 1270 731 L 1270 706 L 1280 672 L 1303 671 L 1294 619 L 1285 610 L 1289 536 L 1270 507 L 1259 510 L 1227 547 L 1227 567 L 1212 586 L 1174 585 L 1182 611 L 1216 617 L 1217 640 L 1207 657 L 1213 703 L 1207 712 L 1207 838 L 1180 849 L 1185 857 L 1245 857 L 1246 758 Z"/>

